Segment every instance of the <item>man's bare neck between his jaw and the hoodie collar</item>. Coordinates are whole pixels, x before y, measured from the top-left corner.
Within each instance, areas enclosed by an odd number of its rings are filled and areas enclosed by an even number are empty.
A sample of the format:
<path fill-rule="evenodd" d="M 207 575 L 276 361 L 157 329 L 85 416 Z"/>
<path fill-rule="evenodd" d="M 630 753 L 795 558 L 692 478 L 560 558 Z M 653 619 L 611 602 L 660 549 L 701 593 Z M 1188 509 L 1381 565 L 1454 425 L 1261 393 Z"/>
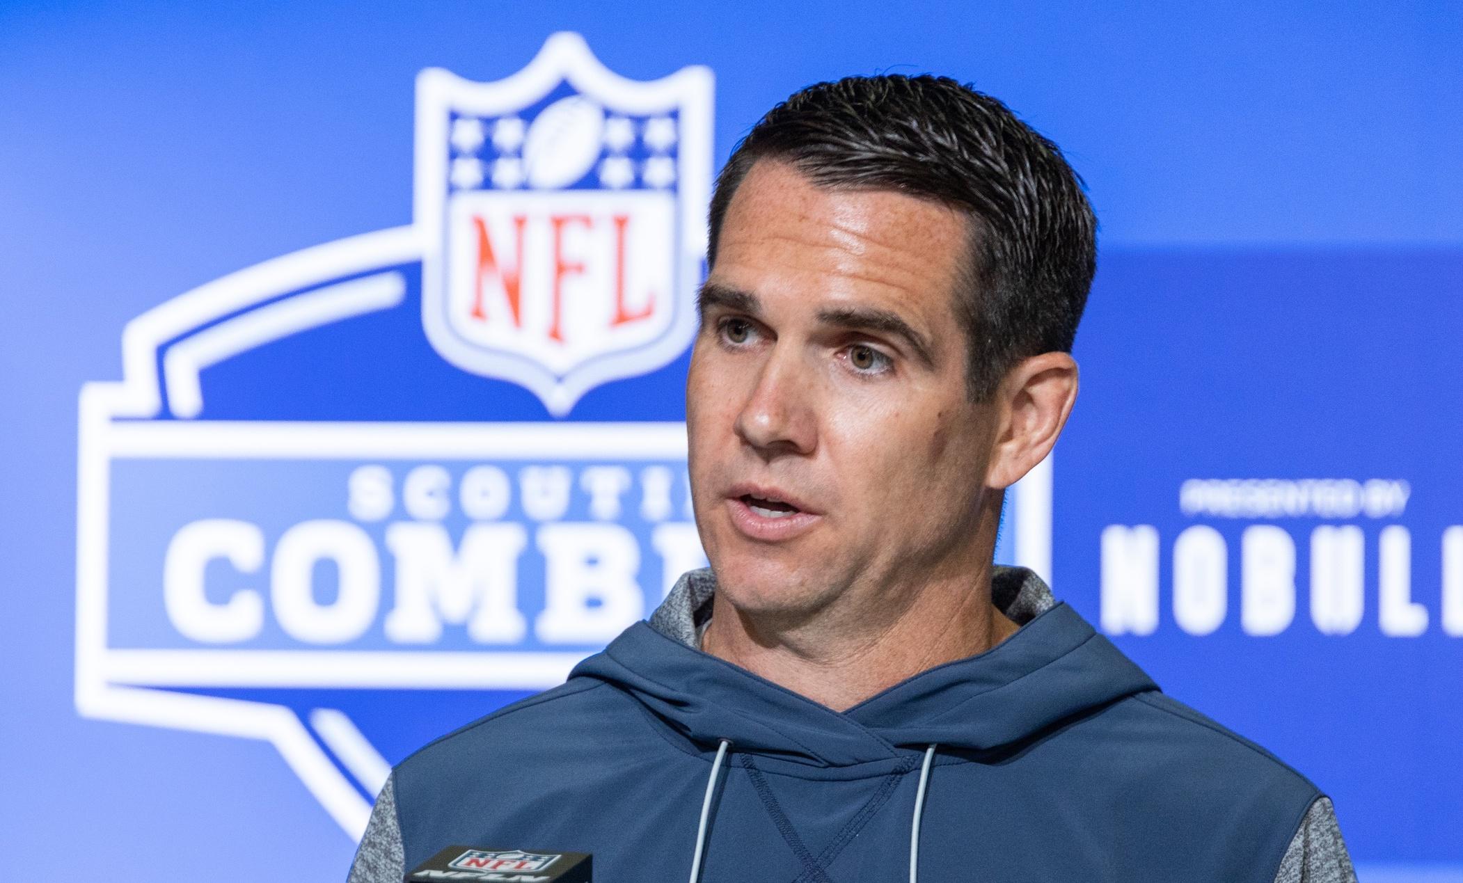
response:
<path fill-rule="evenodd" d="M 718 592 L 701 649 L 841 712 L 922 671 L 983 653 L 1017 629 L 990 602 L 986 564 L 966 579 L 922 586 L 884 618 L 854 611 L 789 624 L 739 611 Z"/>

